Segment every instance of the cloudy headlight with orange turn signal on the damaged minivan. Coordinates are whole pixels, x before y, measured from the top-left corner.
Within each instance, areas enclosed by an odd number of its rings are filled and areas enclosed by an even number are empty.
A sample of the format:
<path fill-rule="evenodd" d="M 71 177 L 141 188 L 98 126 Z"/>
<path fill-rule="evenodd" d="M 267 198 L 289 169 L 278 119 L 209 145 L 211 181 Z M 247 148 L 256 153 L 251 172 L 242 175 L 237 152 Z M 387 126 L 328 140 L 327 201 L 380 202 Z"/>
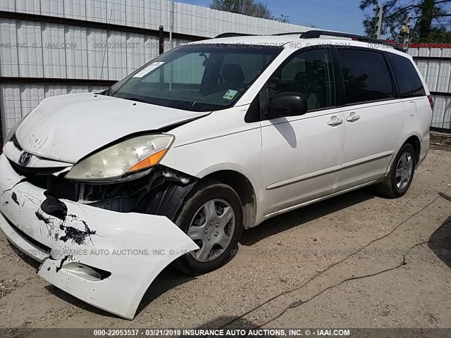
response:
<path fill-rule="evenodd" d="M 66 174 L 69 180 L 103 181 L 158 164 L 173 142 L 167 134 L 135 137 L 85 158 Z"/>

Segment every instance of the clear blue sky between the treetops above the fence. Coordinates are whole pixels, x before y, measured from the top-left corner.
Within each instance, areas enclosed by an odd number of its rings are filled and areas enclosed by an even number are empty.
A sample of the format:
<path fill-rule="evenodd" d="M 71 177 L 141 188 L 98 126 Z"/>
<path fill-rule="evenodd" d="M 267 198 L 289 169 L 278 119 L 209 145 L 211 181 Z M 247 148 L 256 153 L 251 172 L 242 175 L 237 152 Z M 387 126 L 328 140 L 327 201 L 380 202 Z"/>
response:
<path fill-rule="evenodd" d="M 185 4 L 208 7 L 210 0 L 175 0 Z M 338 30 L 364 35 L 363 12 L 359 0 L 257 0 L 268 5 L 278 17 L 288 15 L 295 25 L 313 25 L 324 30 Z"/>

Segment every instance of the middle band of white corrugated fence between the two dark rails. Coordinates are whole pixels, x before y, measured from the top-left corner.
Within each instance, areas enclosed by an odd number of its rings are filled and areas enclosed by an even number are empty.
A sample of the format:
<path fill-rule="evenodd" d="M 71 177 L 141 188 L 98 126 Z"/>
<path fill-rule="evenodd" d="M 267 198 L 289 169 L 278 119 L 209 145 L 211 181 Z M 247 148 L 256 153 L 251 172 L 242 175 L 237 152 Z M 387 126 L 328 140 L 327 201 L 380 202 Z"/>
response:
<path fill-rule="evenodd" d="M 0 37 L 0 75 L 7 77 L 121 80 L 159 50 L 154 35 L 5 18 Z M 173 39 L 174 46 L 186 42 Z"/>

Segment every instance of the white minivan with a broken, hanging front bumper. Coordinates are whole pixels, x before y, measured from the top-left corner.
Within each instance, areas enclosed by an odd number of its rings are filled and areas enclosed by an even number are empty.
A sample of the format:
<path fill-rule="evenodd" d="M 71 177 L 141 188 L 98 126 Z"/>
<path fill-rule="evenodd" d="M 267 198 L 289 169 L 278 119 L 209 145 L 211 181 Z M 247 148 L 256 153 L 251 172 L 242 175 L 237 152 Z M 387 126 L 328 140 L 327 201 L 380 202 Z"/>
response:
<path fill-rule="evenodd" d="M 369 184 L 405 194 L 432 106 L 412 57 L 369 38 L 178 46 L 13 127 L 0 227 L 45 280 L 131 319 L 163 268 L 219 268 L 243 229 Z"/>

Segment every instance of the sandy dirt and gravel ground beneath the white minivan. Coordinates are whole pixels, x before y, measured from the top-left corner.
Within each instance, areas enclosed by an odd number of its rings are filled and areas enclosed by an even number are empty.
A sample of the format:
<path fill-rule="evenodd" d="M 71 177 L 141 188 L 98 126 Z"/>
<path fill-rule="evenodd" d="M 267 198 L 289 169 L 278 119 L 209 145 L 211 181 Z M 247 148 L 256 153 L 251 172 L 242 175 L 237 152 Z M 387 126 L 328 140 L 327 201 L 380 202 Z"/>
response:
<path fill-rule="evenodd" d="M 214 328 L 302 284 L 229 327 L 261 325 L 290 304 L 296 307 L 266 327 L 451 327 L 449 184 L 451 152 L 435 149 L 401 199 L 384 199 L 367 187 L 268 220 L 244 232 L 237 256 L 214 273 L 164 270 L 132 321 L 52 287 L 1 233 L 0 328 Z M 424 244 L 409 250 L 418 243 Z"/>

